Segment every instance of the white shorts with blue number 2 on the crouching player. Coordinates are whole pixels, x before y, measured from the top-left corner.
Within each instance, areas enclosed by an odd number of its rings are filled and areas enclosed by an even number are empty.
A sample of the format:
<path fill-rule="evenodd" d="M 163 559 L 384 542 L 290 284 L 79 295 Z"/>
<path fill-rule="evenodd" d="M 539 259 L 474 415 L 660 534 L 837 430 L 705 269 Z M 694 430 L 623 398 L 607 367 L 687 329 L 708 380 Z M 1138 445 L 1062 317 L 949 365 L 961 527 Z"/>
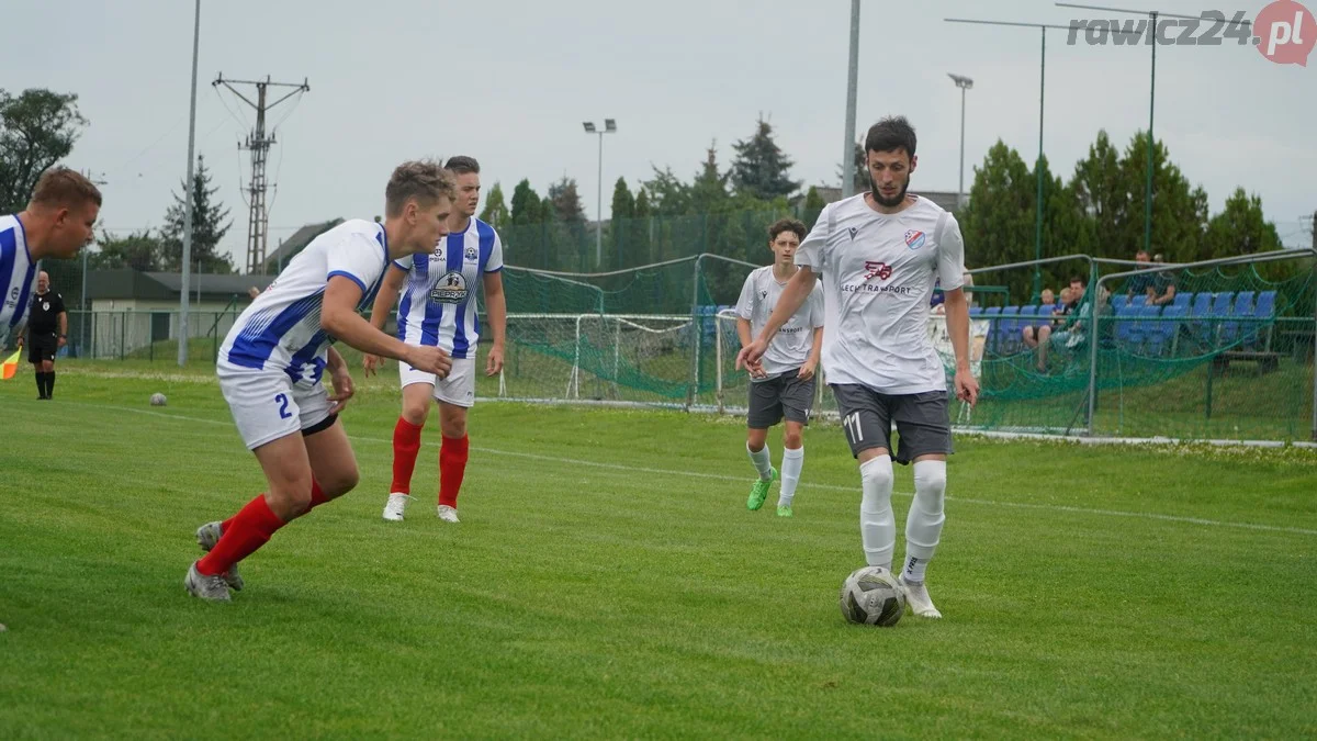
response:
<path fill-rule="evenodd" d="M 220 393 L 248 450 L 309 430 L 329 418 L 329 393 L 323 384 L 294 386 L 281 370 L 216 367 Z"/>

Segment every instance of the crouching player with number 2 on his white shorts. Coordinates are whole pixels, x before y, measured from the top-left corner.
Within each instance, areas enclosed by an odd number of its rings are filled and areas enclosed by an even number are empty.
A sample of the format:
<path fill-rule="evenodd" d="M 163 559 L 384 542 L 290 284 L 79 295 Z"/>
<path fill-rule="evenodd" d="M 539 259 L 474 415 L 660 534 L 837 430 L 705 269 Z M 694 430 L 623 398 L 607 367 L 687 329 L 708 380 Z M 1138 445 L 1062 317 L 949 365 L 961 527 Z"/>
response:
<path fill-rule="evenodd" d="M 229 330 L 216 364 L 220 392 L 269 488 L 229 519 L 198 529 L 198 545 L 209 552 L 187 571 L 190 593 L 229 600 L 230 588 L 242 588 L 240 560 L 357 485 L 357 460 L 338 421 L 352 374 L 332 343 L 448 373 L 443 349 L 404 344 L 358 311 L 374 301 L 391 260 L 435 249 L 448 233 L 452 199 L 452 179 L 437 162 L 404 162 L 385 189 L 383 224 L 353 219 L 313 239 Z M 333 394 L 321 382 L 325 370 Z"/>

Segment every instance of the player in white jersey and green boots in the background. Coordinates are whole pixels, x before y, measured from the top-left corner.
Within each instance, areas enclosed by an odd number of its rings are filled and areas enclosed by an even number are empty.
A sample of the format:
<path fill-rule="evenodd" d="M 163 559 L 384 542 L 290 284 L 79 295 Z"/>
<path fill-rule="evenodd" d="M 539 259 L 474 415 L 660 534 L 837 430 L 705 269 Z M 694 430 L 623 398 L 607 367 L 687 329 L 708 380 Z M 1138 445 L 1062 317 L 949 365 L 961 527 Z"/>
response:
<path fill-rule="evenodd" d="M 768 227 L 768 247 L 773 264 L 751 272 L 736 302 L 736 334 L 741 347 L 748 347 L 777 305 L 782 289 L 795 274 L 795 249 L 805 239 L 805 224 L 780 219 Z M 768 429 L 786 418 L 782 429 L 782 489 L 777 497 L 777 516 L 792 517 L 792 501 L 805 465 L 805 426 L 814 406 L 814 373 L 823 347 L 823 291 L 815 286 L 790 319 L 778 328 L 764 352 L 764 359 L 751 373 L 749 406 L 745 415 L 748 432 L 745 450 L 759 472 L 751 484 L 745 506 L 752 512 L 764 506 L 768 488 L 778 477 L 768 450 Z"/>

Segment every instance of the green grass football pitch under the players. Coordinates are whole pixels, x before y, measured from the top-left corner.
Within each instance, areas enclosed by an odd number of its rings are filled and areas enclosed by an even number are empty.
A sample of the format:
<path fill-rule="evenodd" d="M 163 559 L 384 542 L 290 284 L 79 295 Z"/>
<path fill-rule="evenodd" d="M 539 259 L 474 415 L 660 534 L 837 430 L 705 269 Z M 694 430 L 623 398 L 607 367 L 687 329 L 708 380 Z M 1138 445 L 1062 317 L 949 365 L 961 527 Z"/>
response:
<path fill-rule="evenodd" d="M 205 369 L 161 369 L 0 382 L 0 738 L 1317 734 L 1312 451 L 963 438 L 946 618 L 876 629 L 838 609 L 863 564 L 839 427 L 807 431 L 781 519 L 776 485 L 745 510 L 739 419 L 479 403 L 461 525 L 433 425 L 386 523 L 386 372 L 344 415 L 358 489 L 213 605 L 183 591 L 192 531 L 263 481 Z"/>

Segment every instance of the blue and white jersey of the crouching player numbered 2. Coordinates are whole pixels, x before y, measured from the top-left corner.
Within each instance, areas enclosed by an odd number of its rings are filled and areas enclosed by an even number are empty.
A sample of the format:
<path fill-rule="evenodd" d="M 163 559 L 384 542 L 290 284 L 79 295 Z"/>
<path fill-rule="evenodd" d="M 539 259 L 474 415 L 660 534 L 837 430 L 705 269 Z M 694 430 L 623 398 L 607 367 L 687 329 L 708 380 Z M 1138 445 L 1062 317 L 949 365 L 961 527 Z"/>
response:
<path fill-rule="evenodd" d="M 325 286 L 333 276 L 361 286 L 358 310 L 369 309 L 385 269 L 389 245 L 382 224 L 350 219 L 311 240 L 248 306 L 224 338 L 219 363 L 229 368 L 282 370 L 313 386 L 325 368 L 329 344 L 320 328 Z"/>

